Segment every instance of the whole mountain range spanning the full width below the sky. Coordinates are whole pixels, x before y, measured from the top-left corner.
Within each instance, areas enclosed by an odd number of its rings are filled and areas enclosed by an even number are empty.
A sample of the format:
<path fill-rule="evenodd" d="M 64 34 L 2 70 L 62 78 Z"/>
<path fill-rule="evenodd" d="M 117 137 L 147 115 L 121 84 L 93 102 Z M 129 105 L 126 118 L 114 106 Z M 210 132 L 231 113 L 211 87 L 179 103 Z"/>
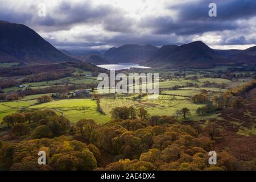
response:
<path fill-rule="evenodd" d="M 0 21 L 0 63 L 59 63 L 85 61 L 93 64 L 137 63 L 150 67 L 210 67 L 255 64 L 256 46 L 219 50 L 201 41 L 162 47 L 126 44 L 102 51 L 58 50 L 23 24 Z"/>

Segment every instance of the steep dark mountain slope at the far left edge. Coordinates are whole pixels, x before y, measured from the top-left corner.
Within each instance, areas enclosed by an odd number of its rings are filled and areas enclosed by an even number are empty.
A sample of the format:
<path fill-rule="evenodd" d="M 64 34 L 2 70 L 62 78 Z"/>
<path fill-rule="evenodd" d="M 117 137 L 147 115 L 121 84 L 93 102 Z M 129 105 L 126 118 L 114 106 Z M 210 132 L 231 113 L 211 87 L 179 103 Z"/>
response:
<path fill-rule="evenodd" d="M 0 21 L 0 62 L 78 61 L 65 55 L 23 24 Z"/>

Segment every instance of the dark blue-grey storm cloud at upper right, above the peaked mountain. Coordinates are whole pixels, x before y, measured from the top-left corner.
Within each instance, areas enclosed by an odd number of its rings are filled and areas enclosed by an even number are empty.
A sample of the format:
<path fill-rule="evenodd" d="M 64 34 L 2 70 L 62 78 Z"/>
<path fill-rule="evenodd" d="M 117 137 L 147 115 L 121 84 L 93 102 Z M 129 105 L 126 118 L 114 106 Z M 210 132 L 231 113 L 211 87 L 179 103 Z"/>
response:
<path fill-rule="evenodd" d="M 217 5 L 217 17 L 208 15 L 209 3 Z M 142 20 L 142 27 L 152 28 L 155 34 L 191 35 L 210 31 L 237 30 L 242 27 L 237 20 L 256 15 L 256 1 L 193 1 L 168 7 L 177 12 L 171 16 L 152 16 Z"/>

